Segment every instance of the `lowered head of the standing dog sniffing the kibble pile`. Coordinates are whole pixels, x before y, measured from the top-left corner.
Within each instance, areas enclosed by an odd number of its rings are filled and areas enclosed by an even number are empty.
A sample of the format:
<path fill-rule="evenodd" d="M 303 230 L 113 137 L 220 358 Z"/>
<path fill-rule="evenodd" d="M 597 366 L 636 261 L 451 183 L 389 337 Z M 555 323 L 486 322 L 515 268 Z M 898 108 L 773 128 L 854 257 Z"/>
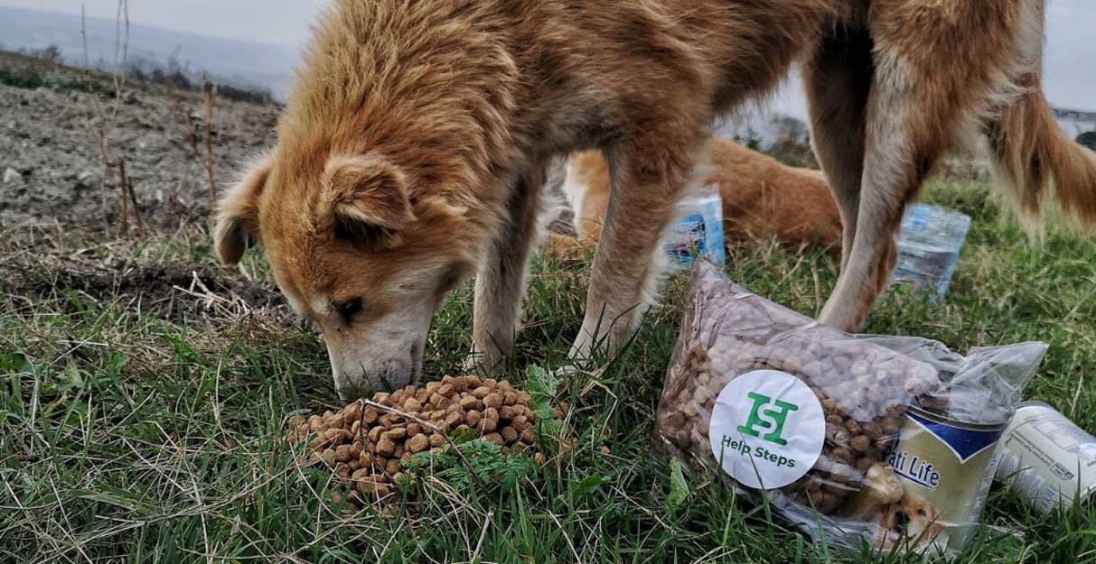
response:
<path fill-rule="evenodd" d="M 220 203 L 226 265 L 262 244 L 288 302 L 320 329 L 340 395 L 413 383 L 431 319 L 472 268 L 466 210 L 377 152 L 255 163 Z"/>

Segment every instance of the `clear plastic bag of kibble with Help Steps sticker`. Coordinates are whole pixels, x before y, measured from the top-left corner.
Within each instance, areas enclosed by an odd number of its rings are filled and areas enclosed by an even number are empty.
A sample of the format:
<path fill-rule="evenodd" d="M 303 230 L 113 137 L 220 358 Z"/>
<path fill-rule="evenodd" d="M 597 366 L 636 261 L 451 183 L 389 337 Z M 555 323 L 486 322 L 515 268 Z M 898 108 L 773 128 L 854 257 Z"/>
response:
<path fill-rule="evenodd" d="M 973 448 L 970 435 L 934 425 L 963 415 L 968 426 L 983 424 L 971 413 L 973 400 L 1000 407 L 991 410 L 994 418 L 1011 416 L 1012 394 L 1038 366 L 1039 345 L 963 357 L 927 339 L 850 335 L 698 262 L 657 433 L 678 459 L 726 476 L 753 499 L 764 496 L 776 515 L 830 542 L 950 550 L 959 542 L 941 544 L 940 537 L 954 528 L 962 531 L 956 539 L 964 539 L 978 514 L 969 507 L 963 515 L 941 514 L 932 504 L 943 500 L 922 499 L 907 483 L 928 483 L 941 494 L 957 485 L 982 490 L 983 477 L 992 480 L 990 461 L 956 464 L 947 469 L 956 475 L 940 475 L 922 463 L 938 453 L 912 452 L 948 452 L 952 439 Z M 899 448 L 937 435 L 945 444 Z M 978 440 L 979 453 L 992 454 L 993 433 Z M 907 458 L 899 460 L 901 452 Z"/>

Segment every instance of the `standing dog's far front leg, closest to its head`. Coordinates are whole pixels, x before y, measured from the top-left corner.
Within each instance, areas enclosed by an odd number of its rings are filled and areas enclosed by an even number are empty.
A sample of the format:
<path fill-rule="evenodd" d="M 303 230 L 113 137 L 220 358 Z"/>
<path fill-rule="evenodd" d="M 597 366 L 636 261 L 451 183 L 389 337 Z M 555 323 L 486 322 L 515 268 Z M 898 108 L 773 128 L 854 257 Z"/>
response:
<path fill-rule="evenodd" d="M 546 174 L 547 166 L 538 164 L 514 183 L 503 221 L 476 275 L 475 348 L 469 369 L 493 373 L 514 346 Z"/>

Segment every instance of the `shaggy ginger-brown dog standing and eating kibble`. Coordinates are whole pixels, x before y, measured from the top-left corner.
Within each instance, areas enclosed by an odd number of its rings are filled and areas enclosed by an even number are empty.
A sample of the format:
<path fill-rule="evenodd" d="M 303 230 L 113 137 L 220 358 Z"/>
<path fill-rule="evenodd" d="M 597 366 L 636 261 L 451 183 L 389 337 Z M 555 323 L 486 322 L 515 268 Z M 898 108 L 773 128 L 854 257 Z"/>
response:
<path fill-rule="evenodd" d="M 1028 210 L 1096 221 L 1096 161 L 1039 83 L 1043 0 L 334 0 L 277 147 L 221 203 L 225 263 L 265 248 L 320 327 L 345 395 L 419 373 L 433 313 L 477 272 L 487 367 L 514 339 L 538 200 L 556 157 L 613 171 L 572 348 L 626 342 L 675 202 L 703 181 L 708 125 L 801 61 L 815 152 L 841 209 L 843 272 L 822 321 L 854 329 L 893 233 L 940 154 L 987 137 Z"/>

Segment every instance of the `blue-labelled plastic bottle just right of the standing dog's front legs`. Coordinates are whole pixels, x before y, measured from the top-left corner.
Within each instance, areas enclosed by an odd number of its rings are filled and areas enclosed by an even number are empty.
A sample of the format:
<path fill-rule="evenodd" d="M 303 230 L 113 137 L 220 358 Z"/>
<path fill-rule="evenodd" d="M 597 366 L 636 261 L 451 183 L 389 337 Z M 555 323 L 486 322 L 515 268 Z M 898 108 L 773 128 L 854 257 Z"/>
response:
<path fill-rule="evenodd" d="M 677 268 L 689 268 L 693 261 L 700 256 L 718 265 L 727 262 L 723 198 L 719 195 L 718 184 L 708 184 L 677 203 L 662 248 L 670 264 Z"/>

